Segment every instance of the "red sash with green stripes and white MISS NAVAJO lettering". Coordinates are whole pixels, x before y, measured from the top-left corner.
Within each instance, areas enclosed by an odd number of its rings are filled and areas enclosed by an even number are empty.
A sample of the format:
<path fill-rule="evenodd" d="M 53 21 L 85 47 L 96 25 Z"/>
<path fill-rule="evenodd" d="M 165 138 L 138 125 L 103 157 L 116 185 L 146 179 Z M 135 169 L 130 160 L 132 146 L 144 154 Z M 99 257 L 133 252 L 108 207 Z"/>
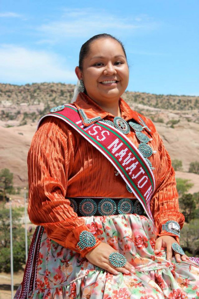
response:
<path fill-rule="evenodd" d="M 141 152 L 129 138 L 108 123 L 97 121 L 90 126 L 84 126 L 78 109 L 70 104 L 64 106 L 62 111 L 44 115 L 39 120 L 37 129 L 46 116 L 55 116 L 72 126 L 114 165 L 141 202 L 146 214 L 153 220 L 150 199 L 155 190 L 155 179 Z"/>

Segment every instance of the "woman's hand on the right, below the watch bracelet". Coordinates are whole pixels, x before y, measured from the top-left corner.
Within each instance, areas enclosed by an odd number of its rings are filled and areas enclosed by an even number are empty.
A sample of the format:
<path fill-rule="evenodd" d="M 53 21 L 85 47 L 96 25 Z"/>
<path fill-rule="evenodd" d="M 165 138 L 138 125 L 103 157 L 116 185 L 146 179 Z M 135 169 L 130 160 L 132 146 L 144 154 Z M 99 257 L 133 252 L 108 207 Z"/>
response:
<path fill-rule="evenodd" d="M 172 254 L 175 255 L 175 259 L 178 263 L 181 263 L 181 261 L 186 261 L 189 260 L 189 257 L 184 254 L 184 255 L 180 255 L 179 253 L 173 251 L 171 245 L 172 243 L 177 243 L 175 238 L 173 238 L 172 236 L 161 236 L 158 237 L 158 239 L 155 242 L 155 254 L 158 254 L 161 251 L 161 247 L 166 248 L 166 259 L 167 260 L 171 260 L 172 258 Z"/>

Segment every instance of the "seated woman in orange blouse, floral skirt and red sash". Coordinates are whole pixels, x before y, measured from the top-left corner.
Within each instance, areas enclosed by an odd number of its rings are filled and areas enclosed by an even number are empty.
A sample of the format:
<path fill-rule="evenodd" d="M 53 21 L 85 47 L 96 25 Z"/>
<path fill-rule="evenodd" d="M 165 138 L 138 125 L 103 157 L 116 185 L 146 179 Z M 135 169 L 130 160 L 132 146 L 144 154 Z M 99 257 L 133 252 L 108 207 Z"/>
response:
<path fill-rule="evenodd" d="M 75 73 L 77 99 L 42 118 L 28 153 L 39 226 L 15 298 L 198 298 L 171 159 L 153 123 L 121 99 L 123 45 L 93 36 Z"/>

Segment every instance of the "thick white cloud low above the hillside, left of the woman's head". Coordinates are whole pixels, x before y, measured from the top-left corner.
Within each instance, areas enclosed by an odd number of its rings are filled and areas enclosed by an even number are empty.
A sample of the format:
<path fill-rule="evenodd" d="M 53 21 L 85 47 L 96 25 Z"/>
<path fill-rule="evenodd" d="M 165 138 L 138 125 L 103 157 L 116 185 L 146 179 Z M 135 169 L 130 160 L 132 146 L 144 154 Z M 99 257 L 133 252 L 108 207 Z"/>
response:
<path fill-rule="evenodd" d="M 68 70 L 66 60 L 54 53 L 33 51 L 15 45 L 0 46 L 0 82 L 72 82 L 74 71 Z"/>

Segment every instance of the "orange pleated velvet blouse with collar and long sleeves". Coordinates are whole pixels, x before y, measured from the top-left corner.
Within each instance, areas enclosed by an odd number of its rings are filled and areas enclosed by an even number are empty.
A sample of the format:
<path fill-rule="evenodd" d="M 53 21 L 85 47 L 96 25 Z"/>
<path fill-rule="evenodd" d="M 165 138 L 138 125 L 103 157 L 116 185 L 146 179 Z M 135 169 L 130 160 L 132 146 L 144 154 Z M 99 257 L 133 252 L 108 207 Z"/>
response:
<path fill-rule="evenodd" d="M 102 110 L 84 93 L 80 93 L 74 105 L 83 109 L 88 118 L 101 116 L 113 120 L 114 116 Z M 138 122 L 138 113 L 133 111 L 120 98 L 122 118 Z M 152 138 L 150 146 L 157 152 L 149 157 L 153 170 L 156 190 L 151 199 L 151 211 L 158 230 L 168 220 L 177 221 L 181 228 L 184 216 L 179 212 L 175 172 L 171 159 L 163 146 L 152 121 L 142 116 L 151 132 L 145 134 Z M 82 119 L 83 121 L 83 119 Z M 85 124 L 85 123 L 84 123 Z M 85 124 L 87 125 L 87 124 Z M 136 147 L 139 141 L 135 132 L 126 135 Z M 78 217 L 67 198 L 70 197 L 109 197 L 132 198 L 135 196 L 126 189 L 120 175 L 115 176 L 114 166 L 78 134 L 72 127 L 59 118 L 47 116 L 41 122 L 28 152 L 29 205 L 31 222 L 43 225 L 50 239 L 62 246 L 79 252 L 79 234 L 89 229 L 85 220 Z M 172 235 L 172 234 L 169 234 Z M 96 240 L 98 246 L 101 241 Z M 92 248 L 80 251 L 85 256 Z"/>

